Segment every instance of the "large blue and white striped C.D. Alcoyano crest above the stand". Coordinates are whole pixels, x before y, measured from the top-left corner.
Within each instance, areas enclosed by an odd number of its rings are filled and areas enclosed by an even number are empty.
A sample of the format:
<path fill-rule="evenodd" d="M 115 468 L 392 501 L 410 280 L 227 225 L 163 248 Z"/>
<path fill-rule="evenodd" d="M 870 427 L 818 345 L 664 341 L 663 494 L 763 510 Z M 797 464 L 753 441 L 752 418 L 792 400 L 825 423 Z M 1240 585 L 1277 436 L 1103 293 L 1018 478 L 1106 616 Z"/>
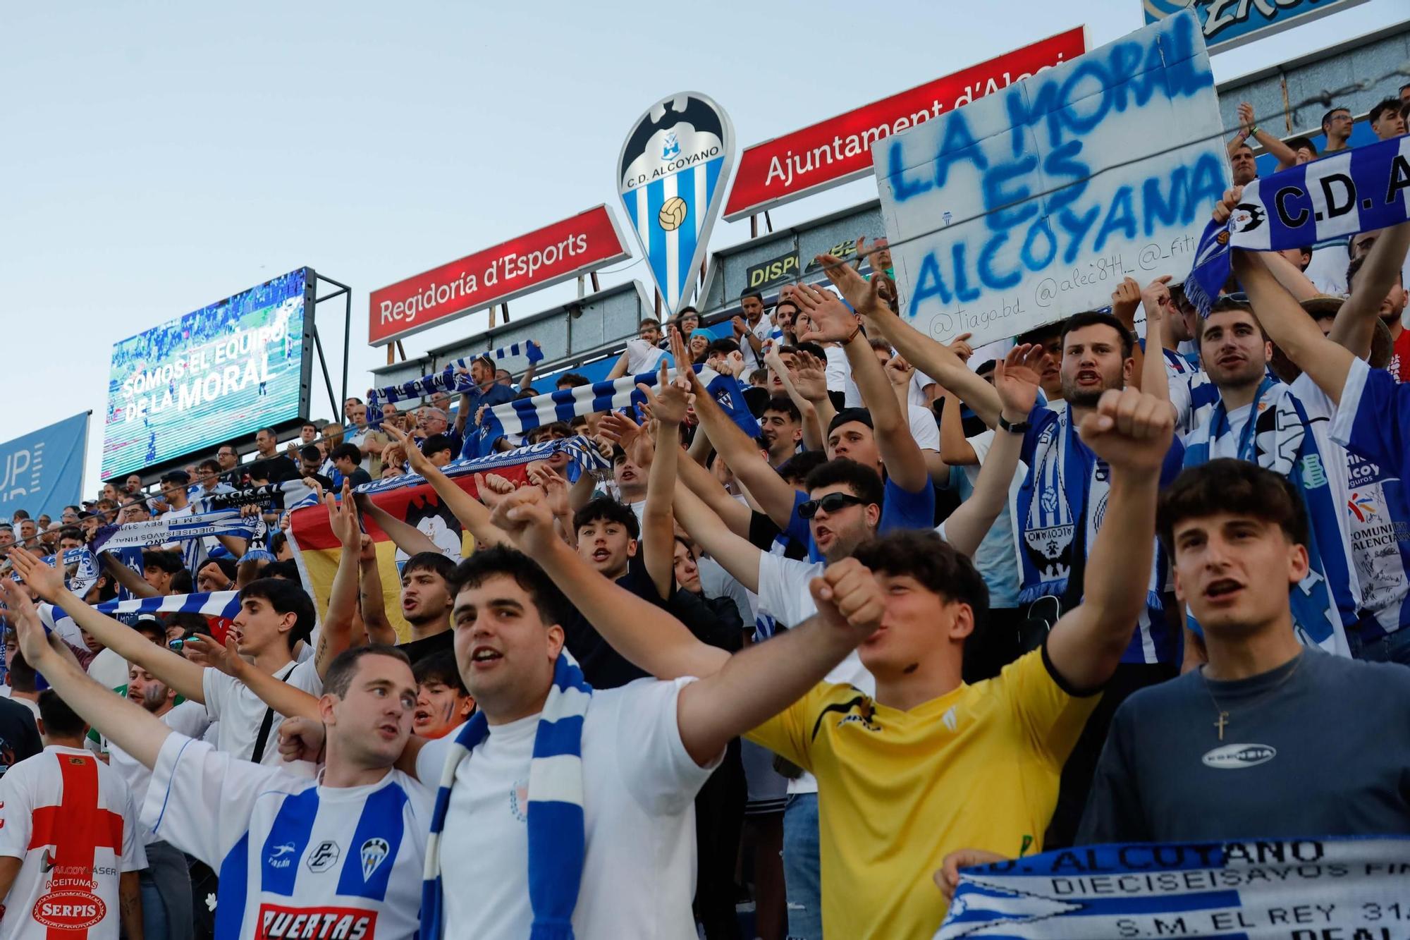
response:
<path fill-rule="evenodd" d="M 663 97 L 622 144 L 618 192 L 671 316 L 689 299 L 733 165 L 735 127 L 697 92 Z"/>

